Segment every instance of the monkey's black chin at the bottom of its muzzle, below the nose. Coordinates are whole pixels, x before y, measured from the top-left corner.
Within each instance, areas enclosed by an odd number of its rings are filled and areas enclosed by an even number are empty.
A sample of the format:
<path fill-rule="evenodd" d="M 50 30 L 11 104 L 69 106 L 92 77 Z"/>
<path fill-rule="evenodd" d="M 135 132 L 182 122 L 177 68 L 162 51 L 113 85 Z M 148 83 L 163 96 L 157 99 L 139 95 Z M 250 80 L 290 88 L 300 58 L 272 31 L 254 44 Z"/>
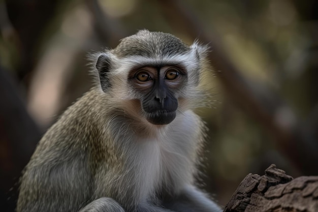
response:
<path fill-rule="evenodd" d="M 153 125 L 168 125 L 176 117 L 176 111 L 165 111 L 165 110 L 156 110 L 150 113 L 147 113 L 146 119 L 149 123 Z"/>

